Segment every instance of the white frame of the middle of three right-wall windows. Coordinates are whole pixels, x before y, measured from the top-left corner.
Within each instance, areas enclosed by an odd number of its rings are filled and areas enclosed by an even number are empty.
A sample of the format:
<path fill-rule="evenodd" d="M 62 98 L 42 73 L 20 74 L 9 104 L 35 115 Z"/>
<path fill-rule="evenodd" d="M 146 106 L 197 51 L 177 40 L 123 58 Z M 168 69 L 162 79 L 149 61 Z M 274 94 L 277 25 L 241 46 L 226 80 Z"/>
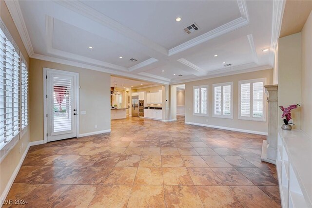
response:
<path fill-rule="evenodd" d="M 223 86 L 231 86 L 231 114 L 223 115 Z M 215 87 L 221 87 L 221 115 L 215 114 Z M 215 118 L 228 118 L 233 119 L 233 91 L 234 91 L 234 83 L 233 82 L 224 82 L 224 83 L 216 83 L 213 84 L 213 117 Z"/>

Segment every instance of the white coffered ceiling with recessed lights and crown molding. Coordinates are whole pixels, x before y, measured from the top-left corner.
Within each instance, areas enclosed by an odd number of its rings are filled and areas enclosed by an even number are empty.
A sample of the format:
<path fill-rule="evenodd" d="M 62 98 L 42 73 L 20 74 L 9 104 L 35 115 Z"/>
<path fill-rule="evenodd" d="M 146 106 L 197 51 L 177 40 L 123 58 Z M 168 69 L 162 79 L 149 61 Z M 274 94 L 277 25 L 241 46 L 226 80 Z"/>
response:
<path fill-rule="evenodd" d="M 30 57 L 162 84 L 272 68 L 285 5 L 278 0 L 5 2 Z M 192 24 L 197 30 L 186 33 Z"/>

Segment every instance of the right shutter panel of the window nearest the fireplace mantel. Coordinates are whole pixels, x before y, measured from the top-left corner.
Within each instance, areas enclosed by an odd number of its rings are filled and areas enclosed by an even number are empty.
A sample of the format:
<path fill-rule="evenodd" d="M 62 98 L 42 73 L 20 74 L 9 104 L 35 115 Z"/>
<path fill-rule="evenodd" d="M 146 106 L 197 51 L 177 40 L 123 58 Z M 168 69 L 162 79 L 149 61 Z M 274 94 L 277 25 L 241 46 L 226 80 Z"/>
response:
<path fill-rule="evenodd" d="M 253 83 L 253 116 L 263 116 L 263 82 Z"/>

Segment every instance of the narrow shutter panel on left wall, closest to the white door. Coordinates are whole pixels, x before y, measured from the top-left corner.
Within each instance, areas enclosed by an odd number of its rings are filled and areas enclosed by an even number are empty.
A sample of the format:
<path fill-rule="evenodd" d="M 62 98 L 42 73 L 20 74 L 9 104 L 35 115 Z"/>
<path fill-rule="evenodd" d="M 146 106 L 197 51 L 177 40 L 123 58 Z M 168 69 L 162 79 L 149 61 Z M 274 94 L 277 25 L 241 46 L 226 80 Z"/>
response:
<path fill-rule="evenodd" d="M 28 71 L 25 61 L 21 61 L 21 129 L 28 125 Z"/>

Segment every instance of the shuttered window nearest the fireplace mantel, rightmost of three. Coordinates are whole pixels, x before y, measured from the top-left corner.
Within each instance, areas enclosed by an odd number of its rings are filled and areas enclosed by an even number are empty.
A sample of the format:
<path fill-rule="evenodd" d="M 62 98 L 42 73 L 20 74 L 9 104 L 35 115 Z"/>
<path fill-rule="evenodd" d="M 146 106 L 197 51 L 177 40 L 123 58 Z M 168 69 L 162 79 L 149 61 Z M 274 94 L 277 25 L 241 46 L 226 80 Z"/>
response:
<path fill-rule="evenodd" d="M 266 78 L 239 81 L 239 119 L 266 121 L 263 86 Z"/>

